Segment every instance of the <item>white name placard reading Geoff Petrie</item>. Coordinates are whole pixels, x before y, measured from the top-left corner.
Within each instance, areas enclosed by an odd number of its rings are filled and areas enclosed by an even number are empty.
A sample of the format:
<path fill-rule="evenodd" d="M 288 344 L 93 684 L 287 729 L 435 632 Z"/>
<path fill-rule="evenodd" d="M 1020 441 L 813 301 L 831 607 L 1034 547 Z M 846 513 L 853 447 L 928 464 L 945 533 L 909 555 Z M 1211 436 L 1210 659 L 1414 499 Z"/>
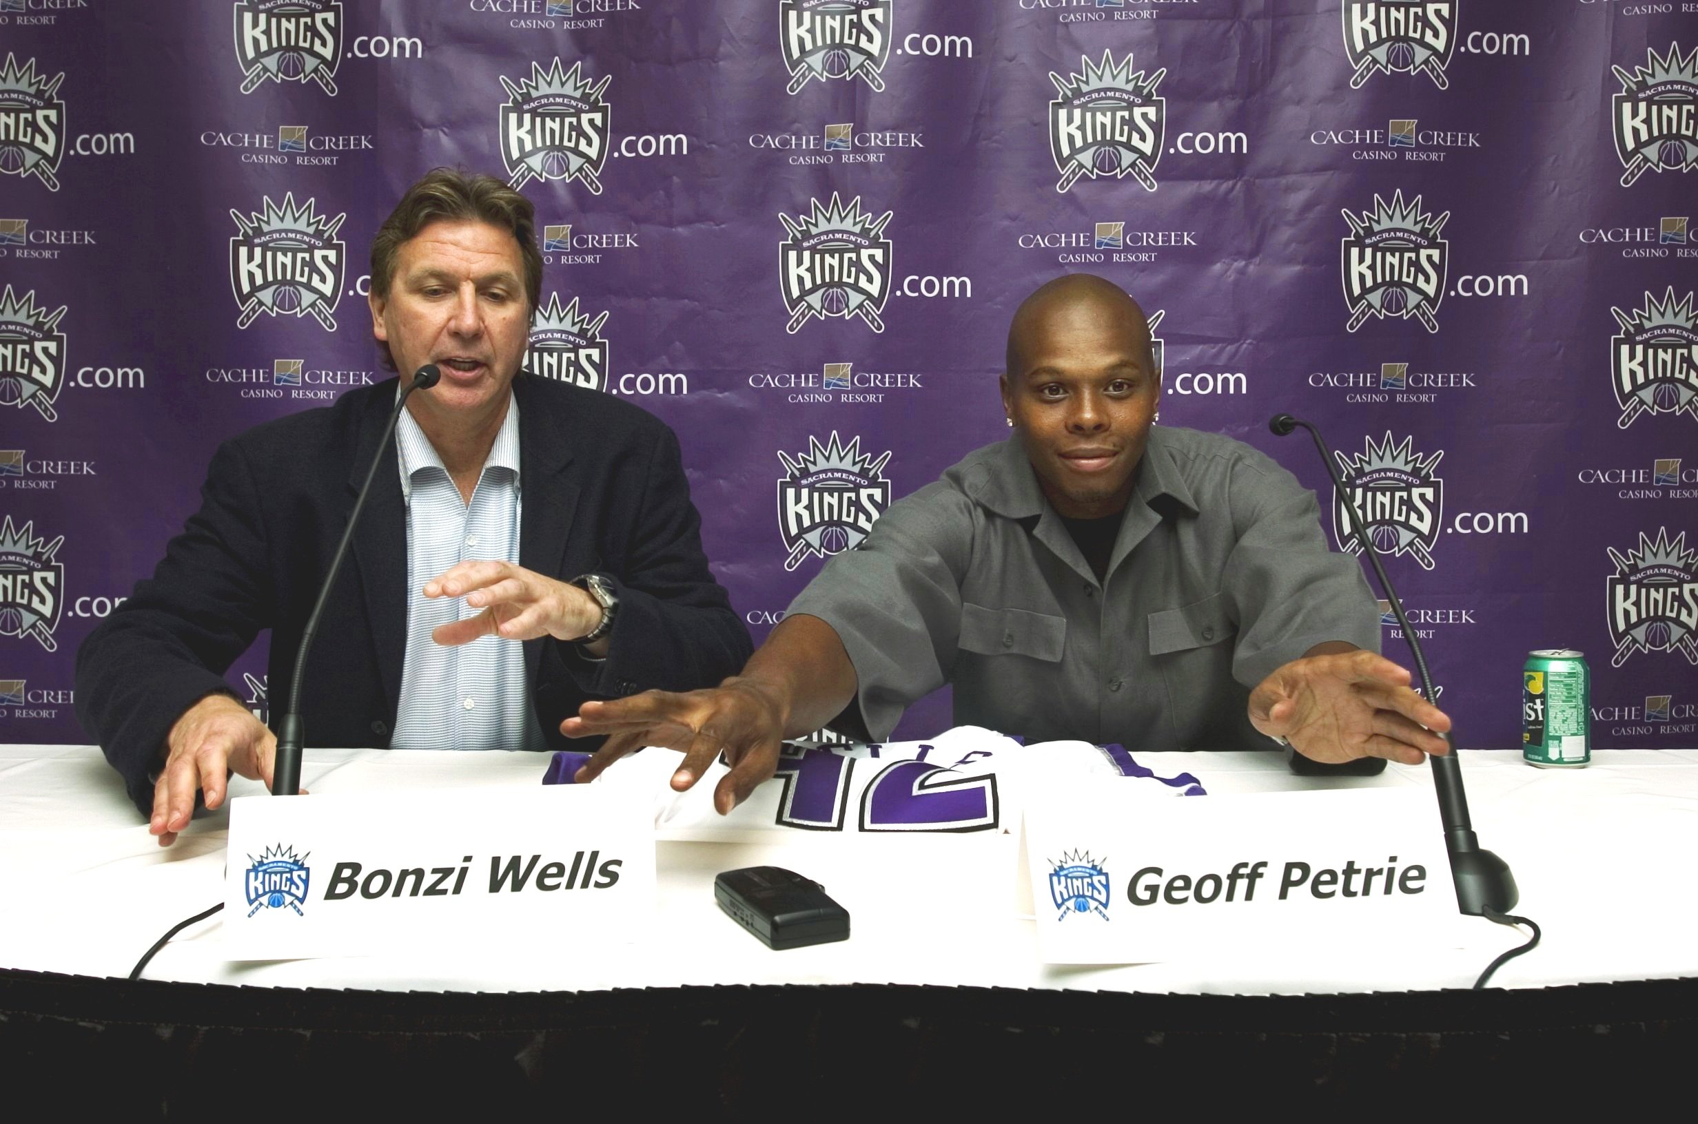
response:
<path fill-rule="evenodd" d="M 1124 781 L 1044 786 L 1026 840 L 1049 964 L 1455 946 L 1462 932 L 1438 810 L 1418 788 L 1158 801 Z"/>

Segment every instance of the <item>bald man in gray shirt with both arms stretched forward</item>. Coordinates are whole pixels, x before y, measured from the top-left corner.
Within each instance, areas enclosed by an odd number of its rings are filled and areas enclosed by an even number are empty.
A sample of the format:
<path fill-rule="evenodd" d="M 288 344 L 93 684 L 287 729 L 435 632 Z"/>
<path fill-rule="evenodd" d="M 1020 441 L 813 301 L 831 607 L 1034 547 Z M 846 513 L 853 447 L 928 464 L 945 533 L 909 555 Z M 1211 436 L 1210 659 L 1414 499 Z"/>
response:
<path fill-rule="evenodd" d="M 1014 430 L 897 503 L 713 691 L 586 703 L 593 779 L 640 745 L 722 752 L 730 812 L 779 744 L 827 723 L 888 737 L 954 684 L 958 722 L 1032 740 L 1248 749 L 1319 762 L 1448 752 L 1450 718 L 1377 654 L 1379 611 L 1314 496 L 1248 445 L 1155 428 L 1150 326 L 1119 287 L 1056 278 L 1009 328 Z"/>

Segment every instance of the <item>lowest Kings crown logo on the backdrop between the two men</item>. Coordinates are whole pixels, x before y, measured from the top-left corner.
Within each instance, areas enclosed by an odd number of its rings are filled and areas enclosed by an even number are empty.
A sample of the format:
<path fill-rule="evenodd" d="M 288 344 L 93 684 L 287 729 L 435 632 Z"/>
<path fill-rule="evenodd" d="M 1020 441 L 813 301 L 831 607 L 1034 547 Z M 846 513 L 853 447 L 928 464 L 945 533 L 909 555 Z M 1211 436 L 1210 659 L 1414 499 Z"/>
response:
<path fill-rule="evenodd" d="M 778 481 L 778 526 L 784 535 L 784 569 L 793 570 L 803 559 L 842 554 L 859 547 L 878 516 L 890 506 L 890 481 L 883 470 L 886 452 L 878 460 L 861 455 L 861 438 L 842 445 L 837 431 L 820 445 L 808 438 L 808 452 L 791 458 L 779 450 L 784 475 Z"/>

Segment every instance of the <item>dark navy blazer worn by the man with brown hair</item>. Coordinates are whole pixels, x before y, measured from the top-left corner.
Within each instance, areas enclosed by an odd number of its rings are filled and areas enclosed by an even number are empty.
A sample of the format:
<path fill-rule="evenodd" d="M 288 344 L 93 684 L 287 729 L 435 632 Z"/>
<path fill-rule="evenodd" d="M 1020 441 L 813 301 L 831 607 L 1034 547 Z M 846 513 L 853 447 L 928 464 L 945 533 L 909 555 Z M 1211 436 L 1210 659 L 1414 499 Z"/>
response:
<path fill-rule="evenodd" d="M 598 391 L 521 374 L 520 565 L 562 581 L 598 572 L 618 589 L 608 659 L 525 642 L 531 705 L 550 749 L 586 700 L 717 684 L 749 657 L 749 632 L 708 572 L 678 438 L 666 423 Z M 256 426 L 219 447 L 200 511 L 151 579 L 76 654 L 76 717 L 143 815 L 148 771 L 177 718 L 229 691 L 222 674 L 272 630 L 268 698 L 287 706 L 306 618 L 396 401 L 396 380 L 335 406 Z M 406 501 L 396 445 L 360 516 L 307 655 L 307 745 L 387 747 L 406 655 Z M 445 745 L 443 749 L 452 749 Z M 540 766 L 538 766 L 540 767 Z"/>

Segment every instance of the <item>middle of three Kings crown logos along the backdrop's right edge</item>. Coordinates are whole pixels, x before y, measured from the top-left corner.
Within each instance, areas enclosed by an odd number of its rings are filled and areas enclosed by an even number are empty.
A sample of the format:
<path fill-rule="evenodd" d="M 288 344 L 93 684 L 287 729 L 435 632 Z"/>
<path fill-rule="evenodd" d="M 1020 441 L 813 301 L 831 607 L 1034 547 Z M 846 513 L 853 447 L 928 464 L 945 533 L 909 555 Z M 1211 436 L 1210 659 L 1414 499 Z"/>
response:
<path fill-rule="evenodd" d="M 1698 421 L 1698 316 L 1693 294 L 1674 302 L 1674 287 L 1659 302 L 1649 292 L 1645 307 L 1623 312 L 1611 307 L 1622 333 L 1610 340 L 1615 401 L 1625 430 L 1640 414 L 1691 414 Z"/>

